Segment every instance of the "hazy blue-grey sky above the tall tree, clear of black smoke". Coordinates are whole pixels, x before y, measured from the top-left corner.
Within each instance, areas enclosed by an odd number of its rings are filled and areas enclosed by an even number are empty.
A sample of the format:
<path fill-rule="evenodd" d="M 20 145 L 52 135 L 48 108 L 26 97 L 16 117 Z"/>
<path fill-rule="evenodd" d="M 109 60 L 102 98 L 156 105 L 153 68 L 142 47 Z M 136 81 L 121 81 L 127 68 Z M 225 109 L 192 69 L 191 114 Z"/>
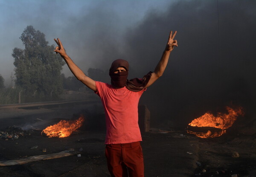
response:
<path fill-rule="evenodd" d="M 89 61 L 81 67 L 87 72 L 88 68 L 98 66 L 90 56 L 96 55 L 96 52 L 86 46 L 92 42 L 84 40 L 100 42 L 100 38 L 92 36 L 107 32 L 120 42 L 125 29 L 139 23 L 151 9 L 162 11 L 168 4 L 168 1 L 157 3 L 156 0 L 0 0 L 0 75 L 6 80 L 6 86 L 10 84 L 12 72 L 15 76 L 12 49 L 24 48 L 19 38 L 26 26 L 32 25 L 43 32 L 49 44 L 55 44 L 53 38 L 61 38 L 69 55 L 78 64 L 87 55 Z M 96 34 L 96 30 L 100 34 Z M 93 58 L 97 56 L 102 58 L 102 53 Z M 67 67 L 64 67 L 63 73 L 71 75 Z"/>

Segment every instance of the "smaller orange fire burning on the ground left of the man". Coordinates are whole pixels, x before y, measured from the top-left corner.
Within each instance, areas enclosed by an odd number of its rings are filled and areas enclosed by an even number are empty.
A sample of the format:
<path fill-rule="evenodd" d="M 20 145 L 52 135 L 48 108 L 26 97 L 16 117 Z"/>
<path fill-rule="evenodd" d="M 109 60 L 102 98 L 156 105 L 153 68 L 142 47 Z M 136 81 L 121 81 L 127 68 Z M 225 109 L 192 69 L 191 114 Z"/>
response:
<path fill-rule="evenodd" d="M 84 122 L 84 117 L 81 116 L 77 120 L 61 120 L 55 125 L 50 125 L 45 128 L 42 133 L 45 133 L 48 137 L 63 138 L 70 136 L 73 131 L 80 128 Z M 41 133 L 41 134 L 42 134 Z"/>

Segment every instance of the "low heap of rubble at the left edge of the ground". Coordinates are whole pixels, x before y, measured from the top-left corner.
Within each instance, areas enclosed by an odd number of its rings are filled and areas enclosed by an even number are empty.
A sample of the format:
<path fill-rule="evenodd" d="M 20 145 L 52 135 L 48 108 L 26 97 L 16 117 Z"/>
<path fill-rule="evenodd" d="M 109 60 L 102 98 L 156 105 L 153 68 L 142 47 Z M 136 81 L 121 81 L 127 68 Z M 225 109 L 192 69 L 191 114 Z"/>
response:
<path fill-rule="evenodd" d="M 17 127 L 7 127 L 4 130 L 0 130 L 0 139 L 4 140 L 14 140 L 18 139 L 20 136 L 31 135 L 29 131 L 24 131 Z"/>

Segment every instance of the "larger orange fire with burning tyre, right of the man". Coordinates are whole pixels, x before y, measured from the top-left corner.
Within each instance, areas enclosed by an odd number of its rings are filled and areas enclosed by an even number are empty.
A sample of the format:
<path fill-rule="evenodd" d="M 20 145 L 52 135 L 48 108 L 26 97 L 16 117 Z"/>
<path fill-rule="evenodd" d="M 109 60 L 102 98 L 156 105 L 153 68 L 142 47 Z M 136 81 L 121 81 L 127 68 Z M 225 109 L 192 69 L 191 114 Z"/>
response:
<path fill-rule="evenodd" d="M 227 128 L 230 128 L 236 121 L 237 116 L 242 115 L 242 108 L 233 109 L 231 107 L 226 107 L 228 113 L 218 113 L 214 116 L 212 113 L 205 113 L 203 116 L 194 119 L 189 125 L 192 127 L 209 127 L 216 128 L 216 132 L 207 131 L 207 133 L 198 133 L 194 131 L 187 131 L 188 133 L 195 134 L 201 138 L 213 138 L 221 136 L 226 133 Z"/>

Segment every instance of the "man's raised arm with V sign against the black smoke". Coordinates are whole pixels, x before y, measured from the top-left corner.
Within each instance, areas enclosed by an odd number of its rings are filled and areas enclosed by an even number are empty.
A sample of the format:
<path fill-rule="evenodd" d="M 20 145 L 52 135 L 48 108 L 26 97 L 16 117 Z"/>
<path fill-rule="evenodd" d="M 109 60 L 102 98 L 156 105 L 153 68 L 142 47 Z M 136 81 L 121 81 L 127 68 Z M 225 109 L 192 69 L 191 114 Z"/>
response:
<path fill-rule="evenodd" d="M 178 46 L 177 40 L 174 40 L 174 37 L 176 35 L 177 31 L 174 32 L 172 35 L 172 31 L 170 32 L 168 42 L 166 44 L 166 48 L 163 51 L 163 55 L 158 62 L 154 72 L 151 75 L 150 80 L 148 81 L 148 84 L 146 87 L 151 86 L 158 78 L 160 78 L 163 75 L 164 70 L 166 69 L 170 53 L 172 52 L 174 46 Z"/>

